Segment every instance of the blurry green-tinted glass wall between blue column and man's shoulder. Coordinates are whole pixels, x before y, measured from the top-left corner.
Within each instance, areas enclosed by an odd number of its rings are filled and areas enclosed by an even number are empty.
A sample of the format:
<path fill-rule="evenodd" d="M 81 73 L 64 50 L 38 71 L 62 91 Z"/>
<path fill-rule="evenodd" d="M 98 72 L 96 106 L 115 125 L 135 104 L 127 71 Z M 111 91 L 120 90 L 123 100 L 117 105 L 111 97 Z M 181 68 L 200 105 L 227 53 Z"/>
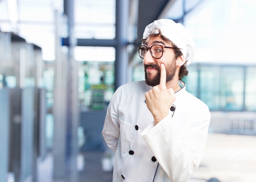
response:
<path fill-rule="evenodd" d="M 79 103 L 82 110 L 104 110 L 114 93 L 114 62 L 81 61 Z"/>

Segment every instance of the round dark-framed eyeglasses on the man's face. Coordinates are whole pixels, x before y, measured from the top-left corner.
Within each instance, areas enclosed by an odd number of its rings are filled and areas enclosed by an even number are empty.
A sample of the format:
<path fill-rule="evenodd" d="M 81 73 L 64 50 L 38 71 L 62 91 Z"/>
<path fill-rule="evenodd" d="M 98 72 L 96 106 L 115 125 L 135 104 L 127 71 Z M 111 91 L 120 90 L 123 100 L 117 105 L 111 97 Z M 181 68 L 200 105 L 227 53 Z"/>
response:
<path fill-rule="evenodd" d="M 150 49 L 151 56 L 154 57 L 155 59 L 159 59 L 163 56 L 164 48 L 173 49 L 173 47 L 167 47 L 162 45 L 153 45 L 151 47 L 139 46 L 138 47 L 139 57 L 141 57 L 141 59 L 144 59 L 146 52 Z"/>

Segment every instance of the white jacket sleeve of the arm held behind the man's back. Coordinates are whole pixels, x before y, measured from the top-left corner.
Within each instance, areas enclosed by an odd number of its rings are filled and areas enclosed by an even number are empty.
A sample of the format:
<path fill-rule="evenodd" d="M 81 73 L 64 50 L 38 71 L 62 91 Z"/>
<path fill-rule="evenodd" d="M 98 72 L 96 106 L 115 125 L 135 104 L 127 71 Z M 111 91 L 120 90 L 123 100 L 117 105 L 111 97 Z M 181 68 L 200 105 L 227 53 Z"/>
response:
<path fill-rule="evenodd" d="M 118 93 L 112 96 L 112 99 L 108 105 L 106 112 L 106 118 L 103 125 L 102 135 L 112 151 L 117 150 L 117 144 L 120 134 L 120 123 L 119 123 L 119 114 L 118 114 L 118 103 L 119 96 Z"/>

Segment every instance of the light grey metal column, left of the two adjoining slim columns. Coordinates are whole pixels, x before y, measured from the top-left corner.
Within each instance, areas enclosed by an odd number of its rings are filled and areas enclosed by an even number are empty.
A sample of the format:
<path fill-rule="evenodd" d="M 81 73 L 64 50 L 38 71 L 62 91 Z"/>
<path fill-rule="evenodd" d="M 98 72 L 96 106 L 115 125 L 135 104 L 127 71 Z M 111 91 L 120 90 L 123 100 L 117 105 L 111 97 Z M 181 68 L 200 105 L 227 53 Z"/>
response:
<path fill-rule="evenodd" d="M 65 148 L 66 148 L 66 100 L 65 100 L 65 81 L 66 72 L 63 64 L 63 56 L 61 52 L 60 26 L 61 15 L 55 12 L 55 69 L 54 69 L 54 140 L 53 140 L 53 178 L 64 178 L 65 169 Z"/>

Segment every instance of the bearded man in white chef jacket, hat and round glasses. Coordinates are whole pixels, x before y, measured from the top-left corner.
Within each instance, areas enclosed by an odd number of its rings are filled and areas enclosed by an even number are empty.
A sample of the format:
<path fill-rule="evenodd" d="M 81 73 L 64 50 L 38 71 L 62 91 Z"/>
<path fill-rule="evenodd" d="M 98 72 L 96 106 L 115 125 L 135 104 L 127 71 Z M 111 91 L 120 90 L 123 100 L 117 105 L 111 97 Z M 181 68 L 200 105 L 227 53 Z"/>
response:
<path fill-rule="evenodd" d="M 210 112 L 182 77 L 193 60 L 189 32 L 172 20 L 146 26 L 145 81 L 119 87 L 108 106 L 103 137 L 115 151 L 113 182 L 185 182 L 198 169 Z"/>

